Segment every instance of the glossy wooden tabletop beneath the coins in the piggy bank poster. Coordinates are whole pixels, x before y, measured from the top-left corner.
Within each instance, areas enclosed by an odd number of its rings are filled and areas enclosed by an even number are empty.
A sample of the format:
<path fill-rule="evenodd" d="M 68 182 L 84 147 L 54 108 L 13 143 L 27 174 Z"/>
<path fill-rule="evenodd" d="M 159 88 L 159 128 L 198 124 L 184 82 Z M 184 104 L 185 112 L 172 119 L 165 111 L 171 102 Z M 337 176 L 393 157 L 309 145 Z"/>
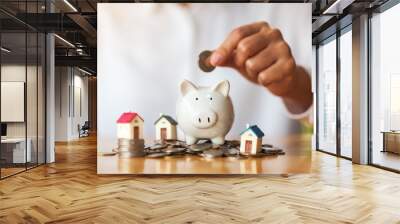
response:
<path fill-rule="evenodd" d="M 97 155 L 98 174 L 287 174 L 309 172 L 311 136 L 285 139 L 280 147 L 285 155 L 262 158 L 205 159 L 199 156 L 164 158 L 119 158 L 118 155 Z"/>

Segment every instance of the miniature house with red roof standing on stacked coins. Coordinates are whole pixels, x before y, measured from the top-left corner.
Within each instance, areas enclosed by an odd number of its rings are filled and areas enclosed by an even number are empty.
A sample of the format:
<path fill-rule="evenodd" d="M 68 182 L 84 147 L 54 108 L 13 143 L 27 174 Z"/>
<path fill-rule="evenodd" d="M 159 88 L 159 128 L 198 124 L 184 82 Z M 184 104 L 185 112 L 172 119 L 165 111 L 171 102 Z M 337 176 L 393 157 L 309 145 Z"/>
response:
<path fill-rule="evenodd" d="M 123 113 L 117 121 L 118 138 L 143 139 L 144 120 L 137 113 Z"/>

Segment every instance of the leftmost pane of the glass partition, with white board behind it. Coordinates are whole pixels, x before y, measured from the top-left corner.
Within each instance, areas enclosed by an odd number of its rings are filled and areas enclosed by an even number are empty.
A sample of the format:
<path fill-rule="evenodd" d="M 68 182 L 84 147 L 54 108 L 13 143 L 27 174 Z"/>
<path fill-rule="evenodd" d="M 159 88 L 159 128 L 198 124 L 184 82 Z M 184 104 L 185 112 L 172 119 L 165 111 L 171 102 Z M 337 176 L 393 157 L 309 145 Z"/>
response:
<path fill-rule="evenodd" d="M 26 169 L 31 151 L 26 141 L 26 33 L 1 34 L 2 177 Z"/>

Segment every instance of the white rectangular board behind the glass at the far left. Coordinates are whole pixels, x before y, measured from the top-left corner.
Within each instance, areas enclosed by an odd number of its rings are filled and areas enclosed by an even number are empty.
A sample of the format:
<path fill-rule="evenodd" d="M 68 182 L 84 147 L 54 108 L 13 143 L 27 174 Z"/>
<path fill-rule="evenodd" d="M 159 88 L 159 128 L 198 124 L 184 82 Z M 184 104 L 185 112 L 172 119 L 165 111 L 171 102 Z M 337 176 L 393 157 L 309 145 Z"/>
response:
<path fill-rule="evenodd" d="M 24 122 L 24 82 L 1 83 L 1 122 Z"/>

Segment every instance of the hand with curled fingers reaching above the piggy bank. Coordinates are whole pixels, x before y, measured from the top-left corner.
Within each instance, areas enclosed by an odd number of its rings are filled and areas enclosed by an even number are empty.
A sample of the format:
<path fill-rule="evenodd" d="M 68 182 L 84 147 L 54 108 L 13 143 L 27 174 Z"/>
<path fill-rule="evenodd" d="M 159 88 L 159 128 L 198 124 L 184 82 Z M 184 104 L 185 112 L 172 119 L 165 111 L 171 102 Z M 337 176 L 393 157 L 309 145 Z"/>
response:
<path fill-rule="evenodd" d="M 210 56 L 211 65 L 236 69 L 281 97 L 290 95 L 296 62 L 281 32 L 266 22 L 234 29 Z"/>

